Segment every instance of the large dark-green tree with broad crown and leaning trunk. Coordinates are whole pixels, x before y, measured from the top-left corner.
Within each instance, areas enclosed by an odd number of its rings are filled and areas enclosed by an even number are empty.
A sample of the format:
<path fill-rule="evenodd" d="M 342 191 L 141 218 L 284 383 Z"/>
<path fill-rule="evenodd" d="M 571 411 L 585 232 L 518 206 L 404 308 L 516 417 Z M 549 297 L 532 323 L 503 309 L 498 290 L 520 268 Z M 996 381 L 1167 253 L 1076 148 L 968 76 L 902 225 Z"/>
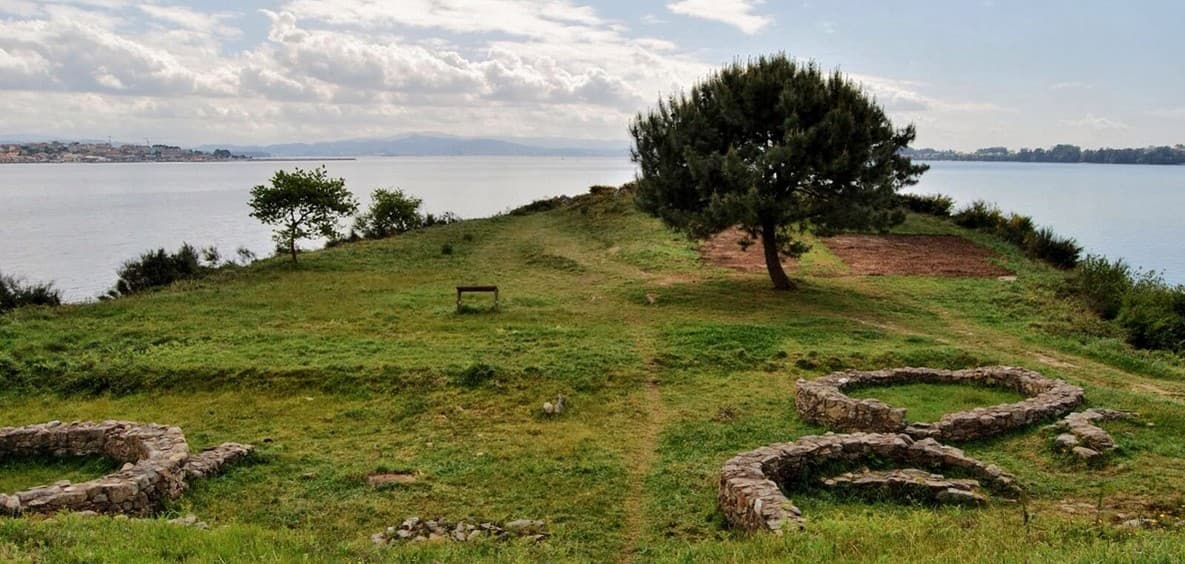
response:
<path fill-rule="evenodd" d="M 839 72 L 784 55 L 734 64 L 630 123 L 636 203 L 692 237 L 735 225 L 761 237 L 774 288 L 793 283 L 781 255 L 795 232 L 888 229 L 902 220 L 896 192 L 925 166 L 901 149 L 876 102 Z"/>

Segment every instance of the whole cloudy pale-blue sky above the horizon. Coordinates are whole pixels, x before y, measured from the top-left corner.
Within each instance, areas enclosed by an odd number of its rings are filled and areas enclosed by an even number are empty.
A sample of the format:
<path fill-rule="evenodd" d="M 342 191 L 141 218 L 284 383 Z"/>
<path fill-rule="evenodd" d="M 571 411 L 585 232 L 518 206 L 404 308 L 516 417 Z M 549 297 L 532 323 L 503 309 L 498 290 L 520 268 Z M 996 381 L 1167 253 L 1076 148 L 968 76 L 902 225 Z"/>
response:
<path fill-rule="evenodd" d="M 1177 0 L 0 0 L 0 136 L 624 145 L 660 97 L 786 52 L 915 147 L 1176 145 L 1183 24 Z"/>

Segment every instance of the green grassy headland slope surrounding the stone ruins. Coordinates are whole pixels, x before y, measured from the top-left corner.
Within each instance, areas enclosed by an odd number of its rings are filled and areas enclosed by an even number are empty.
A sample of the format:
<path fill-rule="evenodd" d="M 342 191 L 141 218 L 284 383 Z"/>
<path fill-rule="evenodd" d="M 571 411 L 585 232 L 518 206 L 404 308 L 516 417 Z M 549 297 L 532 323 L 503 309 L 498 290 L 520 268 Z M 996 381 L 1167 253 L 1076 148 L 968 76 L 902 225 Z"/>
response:
<path fill-rule="evenodd" d="M 954 227 L 915 217 L 902 230 Z M 1064 331 L 1082 316 L 1055 299 L 1055 273 L 967 236 L 1004 252 L 1019 280 L 852 277 L 816 246 L 798 273 L 802 287 L 774 293 L 761 275 L 700 264 L 687 242 L 628 201 L 604 200 L 309 254 L 296 269 L 265 261 L 150 295 L 17 312 L 0 320 L 9 390 L 0 425 L 150 421 L 181 425 L 194 447 L 254 442 L 262 454 L 197 483 L 164 515 L 192 512 L 211 531 L 0 519 L 0 560 L 1185 553 L 1185 533 L 1133 534 L 1058 509 L 1066 500 L 1093 506 L 1102 493 L 1104 506 L 1183 518 L 1185 370 L 1128 351 L 1106 328 Z M 444 243 L 453 255 L 441 254 Z M 504 309 L 454 314 L 451 287 L 461 283 L 498 283 Z M 494 366 L 494 379 L 453 384 L 474 363 Z M 805 533 L 722 526 L 715 491 L 726 459 L 821 431 L 794 415 L 796 378 L 997 363 L 1084 385 L 1090 404 L 1138 410 L 1155 427 L 1109 424 L 1123 450 L 1101 469 L 1052 455 L 1039 429 L 965 444 L 1030 486 L 1027 525 L 1007 504 L 929 509 L 800 494 Z M 569 411 L 542 418 L 539 405 L 557 392 L 571 398 Z M 998 399 L 928 387 L 890 395 L 920 417 Z M 36 467 L 8 468 L 12 483 L 40 479 Z M 380 469 L 419 479 L 377 491 L 365 476 Z M 546 519 L 555 537 L 538 546 L 370 545 L 371 533 L 409 515 Z"/>

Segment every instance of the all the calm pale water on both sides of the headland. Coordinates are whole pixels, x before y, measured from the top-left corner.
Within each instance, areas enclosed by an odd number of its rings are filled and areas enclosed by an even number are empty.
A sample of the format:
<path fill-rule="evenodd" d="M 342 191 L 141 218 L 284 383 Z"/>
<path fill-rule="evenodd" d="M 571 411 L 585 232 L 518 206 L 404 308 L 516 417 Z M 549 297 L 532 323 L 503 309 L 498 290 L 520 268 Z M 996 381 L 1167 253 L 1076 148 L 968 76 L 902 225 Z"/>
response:
<path fill-rule="evenodd" d="M 371 190 L 397 186 L 423 198 L 427 211 L 467 218 L 634 174 L 626 159 L 366 158 L 325 165 L 364 205 Z M 931 165 L 914 192 L 997 201 L 1076 237 L 1091 252 L 1185 282 L 1185 167 Z M 123 261 L 153 248 L 188 242 L 217 245 L 226 256 L 238 246 L 267 255 L 270 231 L 248 216 L 248 193 L 294 166 L 318 162 L 0 166 L 0 273 L 52 280 L 78 301 L 104 293 Z"/>

